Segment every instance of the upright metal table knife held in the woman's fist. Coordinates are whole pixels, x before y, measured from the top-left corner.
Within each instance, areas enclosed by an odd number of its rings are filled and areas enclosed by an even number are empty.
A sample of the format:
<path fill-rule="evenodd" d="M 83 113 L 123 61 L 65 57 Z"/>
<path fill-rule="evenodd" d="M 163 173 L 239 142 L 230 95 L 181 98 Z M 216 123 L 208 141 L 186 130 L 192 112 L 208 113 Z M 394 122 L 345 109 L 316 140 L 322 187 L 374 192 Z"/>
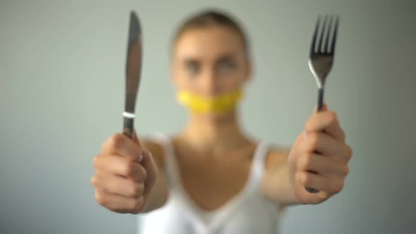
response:
<path fill-rule="evenodd" d="M 134 140 L 135 104 L 142 71 L 142 28 L 134 11 L 130 12 L 126 59 L 126 99 L 123 134 Z"/>

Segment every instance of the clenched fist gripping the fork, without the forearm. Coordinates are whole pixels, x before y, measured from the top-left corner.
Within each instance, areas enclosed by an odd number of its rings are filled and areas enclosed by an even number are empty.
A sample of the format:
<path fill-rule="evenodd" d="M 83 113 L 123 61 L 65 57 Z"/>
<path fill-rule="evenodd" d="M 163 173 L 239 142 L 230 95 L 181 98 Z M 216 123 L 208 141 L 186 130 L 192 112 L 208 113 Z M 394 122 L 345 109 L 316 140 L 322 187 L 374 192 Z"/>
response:
<path fill-rule="evenodd" d="M 300 204 L 319 204 L 343 189 L 353 150 L 345 144 L 345 134 L 336 113 L 324 104 L 305 123 L 305 131 L 288 156 L 290 183 Z M 319 190 L 310 193 L 305 187 Z"/>

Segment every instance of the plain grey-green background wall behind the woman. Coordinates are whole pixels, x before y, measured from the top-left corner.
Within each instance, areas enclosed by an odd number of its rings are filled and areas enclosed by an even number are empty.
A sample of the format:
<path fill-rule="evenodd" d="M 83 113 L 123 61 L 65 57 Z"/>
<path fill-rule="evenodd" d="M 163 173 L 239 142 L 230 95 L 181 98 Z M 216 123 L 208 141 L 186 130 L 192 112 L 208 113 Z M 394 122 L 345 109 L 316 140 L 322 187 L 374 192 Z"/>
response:
<path fill-rule="evenodd" d="M 307 51 L 319 13 L 340 33 L 326 101 L 355 154 L 341 194 L 289 209 L 281 233 L 416 230 L 416 1 L 0 1 L 0 233 L 135 233 L 94 202 L 92 157 L 121 129 L 128 12 L 145 32 L 141 135 L 185 123 L 167 48 L 189 13 L 218 6 L 245 26 L 255 78 L 244 128 L 290 146 L 315 105 Z"/>

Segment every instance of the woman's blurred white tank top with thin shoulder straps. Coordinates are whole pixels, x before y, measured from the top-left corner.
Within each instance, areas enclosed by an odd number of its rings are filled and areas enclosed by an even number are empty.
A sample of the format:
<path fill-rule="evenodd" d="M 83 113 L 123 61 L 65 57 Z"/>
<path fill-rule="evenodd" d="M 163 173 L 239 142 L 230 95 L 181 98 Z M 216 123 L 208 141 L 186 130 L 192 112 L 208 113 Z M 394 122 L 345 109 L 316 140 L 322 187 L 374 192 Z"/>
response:
<path fill-rule="evenodd" d="M 138 234 L 276 234 L 281 211 L 260 193 L 267 144 L 258 144 L 250 174 L 241 192 L 214 211 L 199 207 L 185 192 L 169 137 L 157 133 L 150 139 L 164 148 L 169 198 L 163 207 L 138 215 Z"/>

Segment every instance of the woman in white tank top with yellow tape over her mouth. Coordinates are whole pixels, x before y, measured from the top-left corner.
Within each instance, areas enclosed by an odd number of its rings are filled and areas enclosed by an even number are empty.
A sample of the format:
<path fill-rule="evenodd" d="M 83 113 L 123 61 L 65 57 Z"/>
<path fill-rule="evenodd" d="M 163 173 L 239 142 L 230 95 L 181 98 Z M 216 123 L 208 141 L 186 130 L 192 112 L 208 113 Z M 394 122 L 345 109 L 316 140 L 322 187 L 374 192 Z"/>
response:
<path fill-rule="evenodd" d="M 248 47 L 243 30 L 218 11 L 181 25 L 171 76 L 188 124 L 171 137 L 109 137 L 94 157 L 99 204 L 142 214 L 140 233 L 276 233 L 284 207 L 318 204 L 341 191 L 353 152 L 326 105 L 312 113 L 290 151 L 241 130 Z"/>

